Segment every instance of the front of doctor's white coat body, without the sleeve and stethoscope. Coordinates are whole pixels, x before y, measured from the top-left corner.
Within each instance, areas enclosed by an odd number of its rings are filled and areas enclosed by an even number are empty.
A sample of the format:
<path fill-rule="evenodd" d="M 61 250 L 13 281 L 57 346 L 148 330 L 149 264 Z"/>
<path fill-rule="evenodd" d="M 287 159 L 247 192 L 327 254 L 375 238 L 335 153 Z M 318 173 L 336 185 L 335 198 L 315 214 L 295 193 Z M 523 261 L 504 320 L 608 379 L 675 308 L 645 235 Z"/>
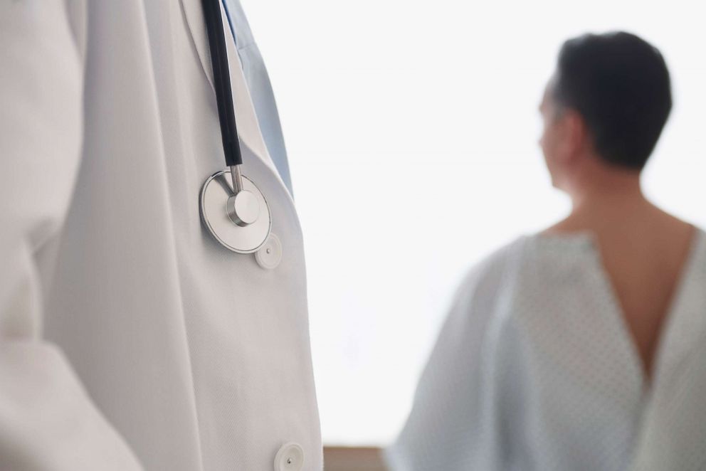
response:
<path fill-rule="evenodd" d="M 243 174 L 283 246 L 270 270 L 201 223 L 223 152 L 200 1 L 77 11 L 83 151 L 63 227 L 38 254 L 46 337 L 146 470 L 320 470 L 302 234 L 232 36 Z"/>

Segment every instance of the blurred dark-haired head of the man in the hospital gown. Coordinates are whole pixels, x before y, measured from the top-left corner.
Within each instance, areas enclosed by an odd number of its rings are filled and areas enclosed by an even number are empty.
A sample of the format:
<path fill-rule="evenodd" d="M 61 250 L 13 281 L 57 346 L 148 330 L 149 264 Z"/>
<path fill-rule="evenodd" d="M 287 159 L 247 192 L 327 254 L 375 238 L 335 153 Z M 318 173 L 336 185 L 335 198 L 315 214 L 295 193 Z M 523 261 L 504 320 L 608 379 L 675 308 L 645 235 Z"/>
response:
<path fill-rule="evenodd" d="M 564 43 L 540 106 L 554 186 L 571 192 L 611 174 L 638 178 L 671 107 L 665 61 L 641 38 L 586 34 Z"/>

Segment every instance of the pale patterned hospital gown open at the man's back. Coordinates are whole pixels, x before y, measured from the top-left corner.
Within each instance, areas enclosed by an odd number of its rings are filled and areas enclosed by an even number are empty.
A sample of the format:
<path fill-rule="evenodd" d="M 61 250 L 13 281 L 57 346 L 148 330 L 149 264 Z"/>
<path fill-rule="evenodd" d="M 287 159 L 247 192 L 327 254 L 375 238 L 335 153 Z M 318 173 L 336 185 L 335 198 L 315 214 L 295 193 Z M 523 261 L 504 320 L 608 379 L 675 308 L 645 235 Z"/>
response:
<path fill-rule="evenodd" d="M 386 450 L 394 471 L 706 470 L 706 236 L 646 386 L 589 233 L 532 235 L 462 283 Z"/>

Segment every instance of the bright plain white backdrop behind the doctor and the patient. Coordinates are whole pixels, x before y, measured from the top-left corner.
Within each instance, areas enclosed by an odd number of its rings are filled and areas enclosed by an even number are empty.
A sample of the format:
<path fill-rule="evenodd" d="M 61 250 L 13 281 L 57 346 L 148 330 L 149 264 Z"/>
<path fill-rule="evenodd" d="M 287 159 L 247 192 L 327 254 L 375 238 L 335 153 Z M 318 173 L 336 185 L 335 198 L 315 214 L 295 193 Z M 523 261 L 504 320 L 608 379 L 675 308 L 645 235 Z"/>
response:
<path fill-rule="evenodd" d="M 385 445 L 463 272 L 561 218 L 537 105 L 564 39 L 658 46 L 675 108 L 646 169 L 706 227 L 706 28 L 695 1 L 241 0 L 304 228 L 325 443 Z"/>

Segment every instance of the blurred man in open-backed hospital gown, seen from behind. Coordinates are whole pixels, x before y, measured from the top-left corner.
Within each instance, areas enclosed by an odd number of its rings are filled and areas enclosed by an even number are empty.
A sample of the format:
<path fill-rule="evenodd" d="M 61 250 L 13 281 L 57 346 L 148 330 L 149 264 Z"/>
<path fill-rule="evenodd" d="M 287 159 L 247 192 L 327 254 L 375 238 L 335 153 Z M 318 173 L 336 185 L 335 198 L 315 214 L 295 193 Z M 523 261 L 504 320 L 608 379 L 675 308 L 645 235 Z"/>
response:
<path fill-rule="evenodd" d="M 392 469 L 706 470 L 706 237 L 640 185 L 671 104 L 640 38 L 564 43 L 541 146 L 571 213 L 465 279 Z"/>

